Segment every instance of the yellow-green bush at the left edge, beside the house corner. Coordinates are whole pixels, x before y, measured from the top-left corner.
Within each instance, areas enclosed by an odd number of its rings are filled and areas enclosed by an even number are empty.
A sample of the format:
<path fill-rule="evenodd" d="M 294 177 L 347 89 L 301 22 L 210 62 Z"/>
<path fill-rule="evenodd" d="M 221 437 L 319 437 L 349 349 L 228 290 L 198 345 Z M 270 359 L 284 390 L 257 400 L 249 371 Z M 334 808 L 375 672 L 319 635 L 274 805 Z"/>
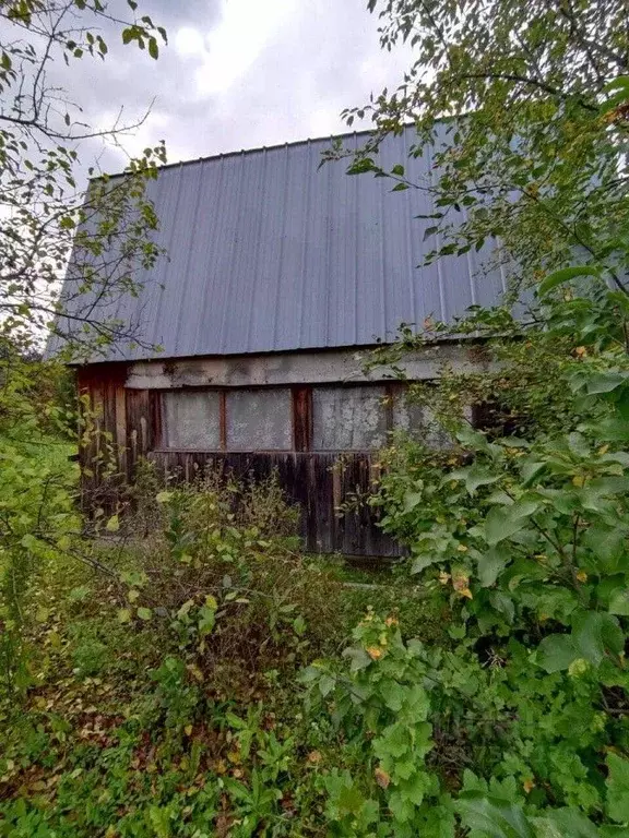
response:
<path fill-rule="evenodd" d="M 0 340 L 0 690 L 15 695 L 31 681 L 25 626 L 33 574 L 80 527 L 66 406 L 49 398 L 33 369 Z M 39 372 L 50 382 L 59 371 L 40 364 Z"/>

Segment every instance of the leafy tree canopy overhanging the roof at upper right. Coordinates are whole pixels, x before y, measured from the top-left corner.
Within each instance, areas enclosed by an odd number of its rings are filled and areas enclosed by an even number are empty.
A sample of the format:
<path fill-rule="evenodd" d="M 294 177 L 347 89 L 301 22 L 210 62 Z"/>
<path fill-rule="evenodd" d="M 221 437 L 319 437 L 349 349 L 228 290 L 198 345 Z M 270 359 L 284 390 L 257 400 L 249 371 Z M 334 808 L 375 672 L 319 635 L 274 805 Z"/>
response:
<path fill-rule="evenodd" d="M 415 60 L 394 92 L 345 112 L 370 113 L 376 134 L 353 171 L 412 121 L 412 154 L 431 147 L 437 182 L 399 189 L 434 199 L 437 251 L 464 253 L 487 237 L 529 284 L 573 263 L 600 267 L 624 292 L 629 263 L 624 0 L 378 0 L 382 47 L 411 44 Z M 439 129 L 439 130 L 438 130 Z M 382 173 L 381 171 L 378 173 Z"/>

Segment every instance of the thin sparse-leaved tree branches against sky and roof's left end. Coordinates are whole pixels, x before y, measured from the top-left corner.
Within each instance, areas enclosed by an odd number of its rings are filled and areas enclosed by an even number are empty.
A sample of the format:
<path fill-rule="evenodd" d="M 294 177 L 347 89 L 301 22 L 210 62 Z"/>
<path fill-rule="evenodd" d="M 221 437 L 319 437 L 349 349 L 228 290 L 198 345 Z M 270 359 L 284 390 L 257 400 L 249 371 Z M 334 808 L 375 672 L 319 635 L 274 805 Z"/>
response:
<path fill-rule="evenodd" d="M 82 357 L 141 339 L 138 324 L 115 320 L 111 304 L 137 292 L 139 270 L 161 255 L 144 192 L 164 145 L 129 158 L 127 177 L 111 179 L 98 166 L 99 146 L 121 148 L 143 119 L 95 128 L 73 91 L 82 62 L 106 60 L 110 37 L 158 57 L 166 32 L 138 5 L 0 0 L 0 316 L 12 342 L 41 344 L 54 330 L 71 334 L 67 350 Z"/>

